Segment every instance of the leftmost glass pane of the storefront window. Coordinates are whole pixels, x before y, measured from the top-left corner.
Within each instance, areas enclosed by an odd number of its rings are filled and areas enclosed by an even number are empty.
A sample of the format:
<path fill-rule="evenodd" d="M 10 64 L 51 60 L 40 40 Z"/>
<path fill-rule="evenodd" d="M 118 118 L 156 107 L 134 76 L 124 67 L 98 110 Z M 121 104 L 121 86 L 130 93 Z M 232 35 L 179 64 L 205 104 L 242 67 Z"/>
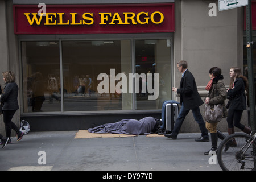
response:
<path fill-rule="evenodd" d="M 23 111 L 61 111 L 59 42 L 22 42 Z"/>

